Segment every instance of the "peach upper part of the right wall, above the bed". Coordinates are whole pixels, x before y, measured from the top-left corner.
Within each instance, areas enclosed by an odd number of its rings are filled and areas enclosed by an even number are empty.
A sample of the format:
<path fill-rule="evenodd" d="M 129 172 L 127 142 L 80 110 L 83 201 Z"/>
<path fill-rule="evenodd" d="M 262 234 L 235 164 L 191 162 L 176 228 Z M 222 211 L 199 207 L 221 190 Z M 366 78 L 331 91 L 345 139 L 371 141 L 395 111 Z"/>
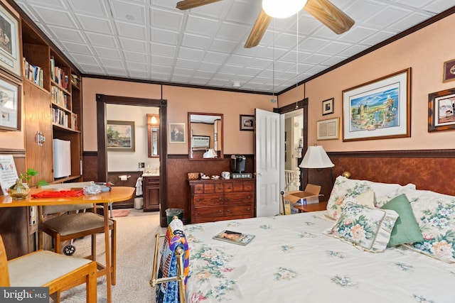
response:
<path fill-rule="evenodd" d="M 427 26 L 375 52 L 338 67 L 305 85 L 309 98 L 309 145 L 317 143 L 328 151 L 350 150 L 419 150 L 454 148 L 454 131 L 428 133 L 428 94 L 455 87 L 455 82 L 442 82 L 444 61 L 455 58 L 455 15 Z M 343 116 L 342 92 L 365 82 L 412 68 L 411 72 L 411 137 L 355 141 L 316 141 L 316 121 Z M 279 96 L 279 105 L 291 104 L 304 96 L 303 86 Z M 334 114 L 322 116 L 323 100 L 335 98 Z M 342 118 L 341 118 L 342 121 Z"/>

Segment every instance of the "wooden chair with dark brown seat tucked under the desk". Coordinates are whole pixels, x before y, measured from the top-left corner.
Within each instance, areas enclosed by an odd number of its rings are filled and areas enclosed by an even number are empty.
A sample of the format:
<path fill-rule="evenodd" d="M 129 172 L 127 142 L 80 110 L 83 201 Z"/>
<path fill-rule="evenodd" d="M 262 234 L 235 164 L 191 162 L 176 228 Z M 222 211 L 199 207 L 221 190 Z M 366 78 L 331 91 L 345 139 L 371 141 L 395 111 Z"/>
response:
<path fill-rule="evenodd" d="M 83 187 L 90 182 L 78 183 L 63 183 L 52 184 L 43 189 L 69 189 L 70 187 Z M 91 253 L 86 258 L 96 261 L 97 256 L 97 233 L 103 233 L 105 230 L 105 219 L 102 215 L 97 214 L 96 204 L 92 204 L 91 209 L 87 209 L 90 204 L 72 204 L 65 206 L 41 206 L 38 208 L 38 247 L 43 249 L 43 233 L 47 233 L 53 238 L 53 246 L 55 253 L 62 253 L 62 243 L 65 241 L 73 241 L 77 238 L 91 236 L 92 246 Z M 64 213 L 64 214 L 61 214 Z M 51 219 L 45 219 L 45 216 L 51 214 L 61 214 L 53 216 Z M 111 275 L 111 284 L 116 283 L 117 272 L 117 225 L 116 221 L 109 219 L 109 231 L 111 231 L 111 261 L 110 269 L 104 265 L 97 263 L 97 276 Z M 72 255 L 75 247 L 70 245 L 70 248 L 65 249 L 65 254 Z"/>

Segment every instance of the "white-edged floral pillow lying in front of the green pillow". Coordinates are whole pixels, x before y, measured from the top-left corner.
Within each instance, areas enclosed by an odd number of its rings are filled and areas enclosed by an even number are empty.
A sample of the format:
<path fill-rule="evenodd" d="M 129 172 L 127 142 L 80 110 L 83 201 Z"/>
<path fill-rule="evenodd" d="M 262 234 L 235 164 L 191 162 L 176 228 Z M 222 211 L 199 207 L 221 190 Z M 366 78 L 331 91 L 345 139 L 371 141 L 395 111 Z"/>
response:
<path fill-rule="evenodd" d="M 397 218 L 398 214 L 390 209 L 371 209 L 347 202 L 341 216 L 324 234 L 364 250 L 381 252 L 387 248 Z"/>

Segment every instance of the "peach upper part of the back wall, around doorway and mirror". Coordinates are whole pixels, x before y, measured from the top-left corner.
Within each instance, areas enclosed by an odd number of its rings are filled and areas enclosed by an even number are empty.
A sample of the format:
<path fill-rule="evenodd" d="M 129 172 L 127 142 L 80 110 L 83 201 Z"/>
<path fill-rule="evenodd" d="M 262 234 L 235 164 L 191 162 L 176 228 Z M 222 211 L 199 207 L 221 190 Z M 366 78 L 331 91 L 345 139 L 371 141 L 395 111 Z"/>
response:
<path fill-rule="evenodd" d="M 84 116 L 84 150 L 97 150 L 96 94 L 112 96 L 161 98 L 157 84 L 140 84 L 106 79 L 84 78 L 82 87 Z M 168 123 L 186 123 L 188 112 L 223 114 L 224 153 L 254 153 L 254 132 L 240 131 L 240 114 L 254 114 L 255 108 L 273 110 L 270 96 L 222 92 L 213 89 L 163 87 L 163 99 L 168 101 Z M 275 105 L 276 106 L 276 105 Z M 187 144 L 168 143 L 169 154 L 187 154 Z"/>

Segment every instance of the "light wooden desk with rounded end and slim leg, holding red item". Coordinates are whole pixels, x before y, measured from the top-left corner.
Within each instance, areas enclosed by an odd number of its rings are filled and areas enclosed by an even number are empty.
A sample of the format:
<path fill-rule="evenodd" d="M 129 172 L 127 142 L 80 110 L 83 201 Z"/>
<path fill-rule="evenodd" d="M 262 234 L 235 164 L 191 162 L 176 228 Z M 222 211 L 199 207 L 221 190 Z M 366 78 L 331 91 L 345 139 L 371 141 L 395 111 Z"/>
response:
<path fill-rule="evenodd" d="M 42 192 L 44 189 L 31 189 L 30 194 L 26 199 L 13 200 L 9 196 L 0 196 L 0 208 L 2 207 L 22 207 L 22 206 L 43 206 L 43 205 L 68 205 L 68 204 L 103 204 L 103 215 L 105 216 L 105 247 L 106 247 L 106 289 L 107 302 L 112 301 L 111 295 L 111 275 L 110 275 L 110 243 L 109 243 L 109 216 L 107 213 L 108 204 L 114 202 L 122 202 L 131 199 L 134 194 L 134 187 L 112 187 L 110 192 L 102 192 L 94 196 L 80 197 L 61 197 L 61 198 L 32 198 L 31 195 L 37 192 Z M 50 190 L 50 189 L 45 189 Z"/>

